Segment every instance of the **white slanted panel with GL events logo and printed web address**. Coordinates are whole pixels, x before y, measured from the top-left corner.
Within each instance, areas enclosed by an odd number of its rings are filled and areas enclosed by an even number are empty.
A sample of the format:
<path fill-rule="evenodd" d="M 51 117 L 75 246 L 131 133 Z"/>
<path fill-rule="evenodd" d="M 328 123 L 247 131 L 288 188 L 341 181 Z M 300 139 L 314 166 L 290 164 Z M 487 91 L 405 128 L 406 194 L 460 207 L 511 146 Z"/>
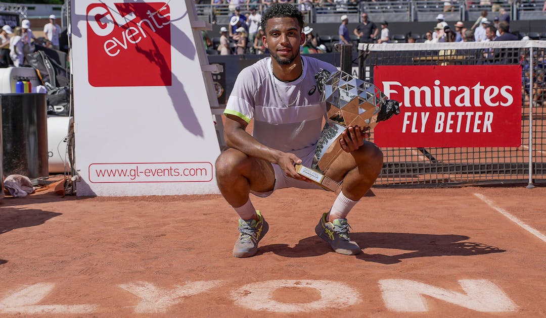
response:
<path fill-rule="evenodd" d="M 212 80 L 188 3 L 72 0 L 78 195 L 218 193 Z"/>

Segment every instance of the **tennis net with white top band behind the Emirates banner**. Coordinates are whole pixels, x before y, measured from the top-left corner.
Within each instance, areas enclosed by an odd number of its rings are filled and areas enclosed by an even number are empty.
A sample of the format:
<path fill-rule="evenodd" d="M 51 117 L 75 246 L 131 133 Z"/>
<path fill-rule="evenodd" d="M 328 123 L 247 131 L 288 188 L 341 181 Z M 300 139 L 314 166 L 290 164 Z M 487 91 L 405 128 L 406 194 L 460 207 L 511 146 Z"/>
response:
<path fill-rule="evenodd" d="M 484 50 L 492 47 L 501 48 L 503 54 L 484 56 Z M 359 53 L 359 77 L 370 82 L 375 65 L 522 65 L 520 147 L 382 148 L 384 165 L 376 185 L 546 184 L 545 43 L 360 44 Z"/>

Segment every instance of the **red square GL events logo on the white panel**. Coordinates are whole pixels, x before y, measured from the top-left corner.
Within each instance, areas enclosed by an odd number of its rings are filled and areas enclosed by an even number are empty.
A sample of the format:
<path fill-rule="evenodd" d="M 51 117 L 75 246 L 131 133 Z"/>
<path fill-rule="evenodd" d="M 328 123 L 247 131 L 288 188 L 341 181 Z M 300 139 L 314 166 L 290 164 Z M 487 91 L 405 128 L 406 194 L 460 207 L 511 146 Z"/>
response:
<path fill-rule="evenodd" d="M 170 7 L 163 2 L 87 7 L 89 83 L 171 86 Z"/>

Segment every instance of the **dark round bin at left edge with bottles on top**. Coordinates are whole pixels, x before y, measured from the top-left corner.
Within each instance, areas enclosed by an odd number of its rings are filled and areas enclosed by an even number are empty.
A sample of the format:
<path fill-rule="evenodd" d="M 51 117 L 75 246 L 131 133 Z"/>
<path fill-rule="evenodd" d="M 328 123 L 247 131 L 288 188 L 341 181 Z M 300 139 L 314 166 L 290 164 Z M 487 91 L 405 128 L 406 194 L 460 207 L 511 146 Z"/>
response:
<path fill-rule="evenodd" d="M 46 94 L 1 94 L 0 106 L 4 176 L 49 176 Z"/>

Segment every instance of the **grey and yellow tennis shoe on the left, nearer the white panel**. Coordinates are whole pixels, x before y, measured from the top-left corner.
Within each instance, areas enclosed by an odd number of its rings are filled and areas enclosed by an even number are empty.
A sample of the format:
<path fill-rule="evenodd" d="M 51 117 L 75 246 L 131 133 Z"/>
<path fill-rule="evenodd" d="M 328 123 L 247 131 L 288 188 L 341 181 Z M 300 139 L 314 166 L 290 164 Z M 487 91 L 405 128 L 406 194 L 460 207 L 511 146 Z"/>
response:
<path fill-rule="evenodd" d="M 250 257 L 258 252 L 258 242 L 269 230 L 269 224 L 256 210 L 259 220 L 239 220 L 239 238 L 233 247 L 233 256 Z"/>

